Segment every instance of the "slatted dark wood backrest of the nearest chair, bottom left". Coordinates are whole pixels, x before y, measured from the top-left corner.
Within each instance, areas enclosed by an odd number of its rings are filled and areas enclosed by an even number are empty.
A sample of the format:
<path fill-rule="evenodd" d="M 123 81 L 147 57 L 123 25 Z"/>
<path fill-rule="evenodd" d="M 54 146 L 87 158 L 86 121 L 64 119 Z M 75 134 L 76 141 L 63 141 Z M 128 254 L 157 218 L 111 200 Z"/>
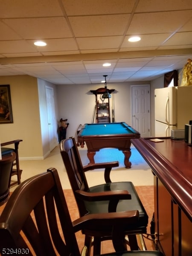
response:
<path fill-rule="evenodd" d="M 21 183 L 0 216 L 1 255 L 18 248 L 24 255 L 80 256 L 56 169 Z"/>

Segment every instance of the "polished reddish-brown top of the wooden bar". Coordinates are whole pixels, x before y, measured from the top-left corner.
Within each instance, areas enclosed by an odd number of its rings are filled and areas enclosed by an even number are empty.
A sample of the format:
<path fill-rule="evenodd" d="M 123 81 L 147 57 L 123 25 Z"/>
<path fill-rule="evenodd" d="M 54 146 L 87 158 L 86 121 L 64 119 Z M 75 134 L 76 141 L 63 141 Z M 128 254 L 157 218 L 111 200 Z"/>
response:
<path fill-rule="evenodd" d="M 133 139 L 131 142 L 143 156 L 172 198 L 192 221 L 192 147 L 184 140 L 160 138 Z"/>

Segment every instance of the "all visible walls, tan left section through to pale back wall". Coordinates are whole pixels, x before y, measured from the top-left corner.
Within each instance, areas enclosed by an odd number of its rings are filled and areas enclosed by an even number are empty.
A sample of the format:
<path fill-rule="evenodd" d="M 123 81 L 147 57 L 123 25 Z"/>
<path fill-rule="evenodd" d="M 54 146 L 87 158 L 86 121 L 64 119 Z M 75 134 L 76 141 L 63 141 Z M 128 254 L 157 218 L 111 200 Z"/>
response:
<path fill-rule="evenodd" d="M 78 126 L 92 121 L 95 96 L 90 90 L 103 87 L 103 84 L 55 85 L 27 75 L 0 76 L 0 84 L 10 84 L 13 112 L 12 124 L 0 124 L 0 141 L 23 140 L 19 147 L 19 156 L 22 160 L 44 159 L 50 152 L 46 86 L 54 89 L 55 127 L 60 125 L 60 118 L 67 118 L 70 123 L 67 137 L 76 137 Z M 136 84 L 149 82 L 108 84 L 108 89 L 115 89 L 116 122 L 123 121 L 131 125 L 130 86 Z M 151 136 L 154 132 L 154 88 L 159 87 L 163 87 L 163 76 L 151 81 Z"/>

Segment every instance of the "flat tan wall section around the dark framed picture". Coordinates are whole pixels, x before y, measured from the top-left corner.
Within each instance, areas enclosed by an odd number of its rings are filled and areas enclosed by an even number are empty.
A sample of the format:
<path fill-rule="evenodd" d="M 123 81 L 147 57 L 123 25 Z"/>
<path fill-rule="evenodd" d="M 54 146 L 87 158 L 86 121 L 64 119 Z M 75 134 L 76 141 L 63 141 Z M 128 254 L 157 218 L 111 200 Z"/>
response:
<path fill-rule="evenodd" d="M 10 84 L 13 113 L 13 123 L 0 124 L 0 141 L 21 139 L 20 157 L 42 156 L 37 79 L 0 76 L 0 84 Z"/>

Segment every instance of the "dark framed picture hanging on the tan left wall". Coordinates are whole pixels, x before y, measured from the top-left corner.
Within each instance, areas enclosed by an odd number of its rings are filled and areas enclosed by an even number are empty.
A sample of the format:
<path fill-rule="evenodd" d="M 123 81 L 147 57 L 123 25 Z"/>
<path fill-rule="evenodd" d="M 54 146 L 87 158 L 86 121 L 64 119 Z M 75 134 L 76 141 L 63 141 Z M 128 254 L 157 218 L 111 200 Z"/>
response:
<path fill-rule="evenodd" d="M 10 85 L 0 85 L 0 124 L 12 122 L 13 116 Z"/>

